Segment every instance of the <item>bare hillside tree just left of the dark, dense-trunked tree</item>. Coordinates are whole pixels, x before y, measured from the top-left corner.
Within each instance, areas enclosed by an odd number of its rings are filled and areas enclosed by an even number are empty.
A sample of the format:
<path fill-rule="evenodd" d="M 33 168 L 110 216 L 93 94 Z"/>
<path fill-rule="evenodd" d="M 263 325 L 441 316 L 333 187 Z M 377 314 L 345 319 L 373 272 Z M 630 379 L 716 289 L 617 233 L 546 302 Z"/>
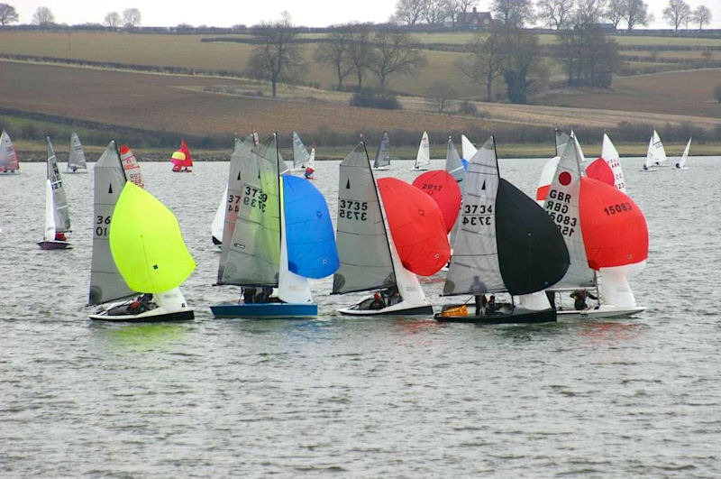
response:
<path fill-rule="evenodd" d="M 500 41 L 497 29 L 491 29 L 488 34 L 479 33 L 466 45 L 469 55 L 456 62 L 463 75 L 486 88 L 486 101 L 493 101 L 493 83 L 502 74 Z"/>

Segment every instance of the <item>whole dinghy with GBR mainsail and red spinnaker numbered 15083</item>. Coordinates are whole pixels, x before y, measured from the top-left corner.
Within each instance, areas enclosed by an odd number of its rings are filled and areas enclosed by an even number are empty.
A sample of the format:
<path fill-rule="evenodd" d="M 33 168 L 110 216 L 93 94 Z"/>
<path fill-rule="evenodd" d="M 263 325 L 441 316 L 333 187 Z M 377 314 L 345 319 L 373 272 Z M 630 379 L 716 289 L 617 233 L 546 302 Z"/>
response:
<path fill-rule="evenodd" d="M 625 278 L 641 271 L 648 256 L 648 229 L 634 200 L 584 176 L 579 149 L 563 148 L 545 209 L 559 226 L 570 255 L 568 271 L 552 290 L 595 288 L 600 298 L 594 309 L 562 309 L 560 304 L 559 318 L 611 318 L 643 311 Z"/>

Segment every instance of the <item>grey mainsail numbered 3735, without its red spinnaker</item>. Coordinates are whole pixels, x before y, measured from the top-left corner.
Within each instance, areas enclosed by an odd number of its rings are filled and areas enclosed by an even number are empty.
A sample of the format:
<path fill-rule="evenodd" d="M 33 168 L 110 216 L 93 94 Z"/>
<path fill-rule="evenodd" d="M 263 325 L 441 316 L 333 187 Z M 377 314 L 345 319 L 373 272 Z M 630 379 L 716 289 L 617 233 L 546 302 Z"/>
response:
<path fill-rule="evenodd" d="M 341 267 L 333 294 L 385 289 L 396 285 L 378 191 L 365 144 L 341 162 L 335 241 Z"/>

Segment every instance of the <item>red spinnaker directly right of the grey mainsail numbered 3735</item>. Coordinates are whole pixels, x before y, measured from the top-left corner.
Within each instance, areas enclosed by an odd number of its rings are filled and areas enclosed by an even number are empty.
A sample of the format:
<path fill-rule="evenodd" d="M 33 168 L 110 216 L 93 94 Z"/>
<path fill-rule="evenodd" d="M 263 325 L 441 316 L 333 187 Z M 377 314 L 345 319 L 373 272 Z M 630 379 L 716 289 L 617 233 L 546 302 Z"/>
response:
<path fill-rule="evenodd" d="M 434 199 L 396 178 L 381 178 L 378 189 L 404 268 L 421 276 L 439 272 L 451 259 L 451 245 Z"/>

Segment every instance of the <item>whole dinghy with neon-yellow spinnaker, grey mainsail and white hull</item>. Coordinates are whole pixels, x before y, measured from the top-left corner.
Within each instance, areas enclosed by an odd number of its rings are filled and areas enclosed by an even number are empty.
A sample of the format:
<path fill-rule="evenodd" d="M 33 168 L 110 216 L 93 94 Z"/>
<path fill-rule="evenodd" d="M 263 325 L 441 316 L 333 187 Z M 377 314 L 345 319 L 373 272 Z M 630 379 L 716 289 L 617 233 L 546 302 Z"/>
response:
<path fill-rule="evenodd" d="M 175 216 L 125 180 L 114 142 L 96 162 L 94 174 L 88 304 L 102 305 L 102 309 L 89 317 L 123 322 L 192 319 L 193 310 L 178 286 L 196 263 L 187 252 Z"/>

